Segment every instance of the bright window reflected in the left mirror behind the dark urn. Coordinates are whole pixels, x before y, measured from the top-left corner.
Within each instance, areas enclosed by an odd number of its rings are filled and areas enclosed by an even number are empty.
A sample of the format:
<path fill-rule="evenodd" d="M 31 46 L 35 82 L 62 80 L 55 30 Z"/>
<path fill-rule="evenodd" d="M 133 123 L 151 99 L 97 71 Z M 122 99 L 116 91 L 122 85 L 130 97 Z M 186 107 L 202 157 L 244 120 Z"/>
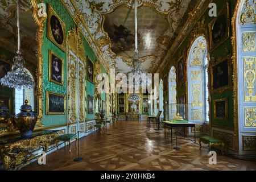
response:
<path fill-rule="evenodd" d="M 32 78 L 34 81 L 34 78 L 30 71 L 28 71 L 26 68 L 24 68 L 28 75 Z M 15 114 L 20 113 L 20 106 L 24 104 L 24 101 L 28 100 L 28 104 L 32 106 L 32 110 L 34 110 L 34 87 L 31 89 L 15 89 Z"/>

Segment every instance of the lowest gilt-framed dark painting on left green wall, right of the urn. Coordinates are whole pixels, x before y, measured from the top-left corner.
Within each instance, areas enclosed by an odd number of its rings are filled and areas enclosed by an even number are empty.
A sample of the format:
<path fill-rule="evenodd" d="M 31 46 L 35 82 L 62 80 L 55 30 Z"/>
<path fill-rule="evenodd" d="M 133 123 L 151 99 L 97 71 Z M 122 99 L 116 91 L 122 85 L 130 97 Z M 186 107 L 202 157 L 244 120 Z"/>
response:
<path fill-rule="evenodd" d="M 62 106 L 63 109 L 60 109 L 59 111 L 57 111 L 57 110 L 53 111 L 54 110 L 53 109 L 54 104 L 53 104 L 53 101 L 51 100 L 50 96 L 63 98 L 63 100 L 61 100 L 61 103 L 55 104 L 57 106 L 63 105 Z M 65 113 L 66 113 L 66 96 L 64 94 L 50 92 L 50 91 L 47 90 L 46 91 L 46 115 L 64 115 Z"/>

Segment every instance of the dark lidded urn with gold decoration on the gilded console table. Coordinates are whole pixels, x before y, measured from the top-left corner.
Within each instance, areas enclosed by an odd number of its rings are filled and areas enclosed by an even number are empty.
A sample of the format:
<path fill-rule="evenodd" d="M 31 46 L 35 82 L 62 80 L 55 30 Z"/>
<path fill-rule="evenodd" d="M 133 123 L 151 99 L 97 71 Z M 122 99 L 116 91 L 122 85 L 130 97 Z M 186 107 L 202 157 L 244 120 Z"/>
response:
<path fill-rule="evenodd" d="M 31 105 L 25 100 L 24 105 L 20 106 L 20 113 L 14 117 L 14 126 L 18 127 L 21 137 L 31 137 L 34 127 L 38 121 L 38 115 L 32 111 Z"/>

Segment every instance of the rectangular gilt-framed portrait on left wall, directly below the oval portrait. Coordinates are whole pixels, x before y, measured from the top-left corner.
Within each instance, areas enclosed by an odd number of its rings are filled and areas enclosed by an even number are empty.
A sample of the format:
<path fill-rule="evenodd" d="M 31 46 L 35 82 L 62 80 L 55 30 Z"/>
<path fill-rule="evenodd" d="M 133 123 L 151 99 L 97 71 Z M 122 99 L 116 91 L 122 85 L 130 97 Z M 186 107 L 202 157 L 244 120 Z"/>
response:
<path fill-rule="evenodd" d="M 58 68 L 61 68 L 61 73 L 60 73 L 61 81 L 60 82 L 56 80 L 57 78 L 53 77 L 53 74 L 54 74 L 52 72 L 52 66 L 54 64 L 54 63 L 52 63 L 53 56 L 55 57 L 55 59 L 57 59 L 58 64 L 59 64 L 59 61 L 61 62 L 61 67 L 58 67 Z M 64 85 L 64 60 L 61 59 L 59 56 L 56 56 L 56 54 L 53 53 L 53 51 L 51 51 L 51 50 L 49 50 L 49 81 L 53 82 L 57 85 L 61 85 L 61 86 Z"/>

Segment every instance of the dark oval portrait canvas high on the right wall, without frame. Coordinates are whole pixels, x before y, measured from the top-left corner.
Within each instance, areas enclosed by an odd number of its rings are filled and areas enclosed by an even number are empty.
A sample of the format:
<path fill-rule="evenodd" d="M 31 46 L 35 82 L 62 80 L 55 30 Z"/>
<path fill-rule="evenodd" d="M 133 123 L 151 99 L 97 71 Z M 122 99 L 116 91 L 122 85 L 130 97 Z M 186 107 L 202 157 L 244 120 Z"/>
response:
<path fill-rule="evenodd" d="M 220 42 L 226 36 L 227 19 L 225 15 L 218 16 L 212 29 L 212 40 L 214 43 Z"/>

